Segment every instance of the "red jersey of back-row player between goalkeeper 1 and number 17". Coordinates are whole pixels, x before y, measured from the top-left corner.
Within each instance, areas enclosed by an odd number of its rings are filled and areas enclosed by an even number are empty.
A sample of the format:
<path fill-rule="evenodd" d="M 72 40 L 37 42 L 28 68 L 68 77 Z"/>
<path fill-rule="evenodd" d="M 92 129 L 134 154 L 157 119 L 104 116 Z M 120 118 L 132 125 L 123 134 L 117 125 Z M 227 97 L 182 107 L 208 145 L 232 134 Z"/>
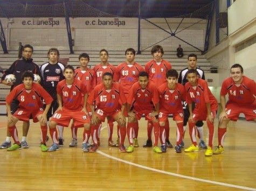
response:
<path fill-rule="evenodd" d="M 86 85 L 87 92 L 91 92 L 96 86 L 96 76 L 92 69 L 87 68 L 86 70 L 81 70 L 80 68 L 75 70 L 75 78 L 81 80 L 82 83 Z"/>

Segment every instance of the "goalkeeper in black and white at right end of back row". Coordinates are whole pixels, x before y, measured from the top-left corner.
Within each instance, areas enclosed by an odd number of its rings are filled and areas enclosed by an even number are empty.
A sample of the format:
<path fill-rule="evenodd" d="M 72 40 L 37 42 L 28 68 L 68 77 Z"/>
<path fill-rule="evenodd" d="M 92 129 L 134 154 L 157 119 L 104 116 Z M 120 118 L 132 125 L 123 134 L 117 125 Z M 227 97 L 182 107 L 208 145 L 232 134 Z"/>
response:
<path fill-rule="evenodd" d="M 179 78 L 178 78 L 178 83 L 185 85 L 188 82 L 188 79 L 186 76 L 188 75 L 188 71 L 190 69 L 195 69 L 197 71 L 197 75 L 201 79 L 205 79 L 204 77 L 204 71 L 201 70 L 200 68 L 197 68 L 197 55 L 195 54 L 189 54 L 188 56 L 188 64 L 189 67 L 184 68 L 181 73 L 179 73 Z M 186 130 L 186 123 L 188 122 L 189 119 L 189 107 L 188 104 L 186 104 L 185 100 L 183 100 L 183 110 L 184 110 L 184 126 L 183 126 L 183 131 L 185 134 Z M 193 103 L 193 108 L 195 107 L 195 103 Z M 205 145 L 204 142 L 204 133 L 203 133 L 203 121 L 197 121 L 196 123 L 196 128 L 198 131 L 198 137 L 200 138 L 199 146 L 202 147 L 203 149 L 206 149 L 207 146 Z M 182 146 L 184 146 L 184 142 L 182 141 Z"/>

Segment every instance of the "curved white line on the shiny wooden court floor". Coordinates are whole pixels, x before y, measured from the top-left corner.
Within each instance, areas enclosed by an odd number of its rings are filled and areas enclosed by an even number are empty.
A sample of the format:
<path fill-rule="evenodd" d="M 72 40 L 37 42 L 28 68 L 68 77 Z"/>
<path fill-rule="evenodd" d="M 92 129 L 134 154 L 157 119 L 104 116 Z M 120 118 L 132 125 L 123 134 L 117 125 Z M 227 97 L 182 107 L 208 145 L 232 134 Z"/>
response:
<path fill-rule="evenodd" d="M 102 128 L 101 128 L 101 131 L 102 131 L 103 129 L 105 129 L 106 127 L 107 127 L 107 126 L 102 127 Z M 174 177 L 180 177 L 180 178 L 185 178 L 185 179 L 190 179 L 190 180 L 196 180 L 196 181 L 201 181 L 201 182 L 212 183 L 212 184 L 215 184 L 215 185 L 221 185 L 221 186 L 227 186 L 227 187 L 232 187 L 232 188 L 240 188 L 240 189 L 244 189 L 244 190 L 254 190 L 254 191 L 256 191 L 255 188 L 250 188 L 250 187 L 245 187 L 245 186 L 231 185 L 230 183 L 216 182 L 216 181 L 212 181 L 212 180 L 199 179 L 199 178 L 188 177 L 188 176 L 185 176 L 185 175 L 176 174 L 176 173 L 172 173 L 172 172 L 162 171 L 162 170 L 158 170 L 158 169 L 156 169 L 156 168 L 151 168 L 151 167 L 147 167 L 147 166 L 135 164 L 135 163 L 129 162 L 129 161 L 127 161 L 127 160 L 123 160 L 123 159 L 120 159 L 120 158 L 116 158 L 116 157 L 110 156 L 110 155 L 108 155 L 108 154 L 106 154 L 105 152 L 102 152 L 102 151 L 96 151 L 96 152 L 100 153 L 100 155 L 103 155 L 103 156 L 105 156 L 105 157 L 108 157 L 108 158 L 111 158 L 111 159 L 120 161 L 120 162 L 122 162 L 122 163 L 126 163 L 126 164 L 129 164 L 129 165 L 133 165 L 133 166 L 136 166 L 136 167 L 139 167 L 139 168 L 144 168 L 144 169 L 149 170 L 149 171 L 154 171 L 154 172 L 159 172 L 159 173 L 163 173 L 163 174 L 168 174 L 168 175 L 172 175 L 172 176 L 174 176 Z"/>

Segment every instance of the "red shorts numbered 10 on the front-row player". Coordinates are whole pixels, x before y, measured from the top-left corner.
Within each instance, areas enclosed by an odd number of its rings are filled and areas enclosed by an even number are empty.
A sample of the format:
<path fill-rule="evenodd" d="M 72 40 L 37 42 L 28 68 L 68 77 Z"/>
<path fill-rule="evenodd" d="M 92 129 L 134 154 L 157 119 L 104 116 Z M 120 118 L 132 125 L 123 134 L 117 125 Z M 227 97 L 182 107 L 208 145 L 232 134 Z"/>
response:
<path fill-rule="evenodd" d="M 73 119 L 74 127 L 83 127 L 84 124 L 90 123 L 89 116 L 81 112 L 82 109 L 69 110 L 63 108 L 62 111 L 55 112 L 50 121 L 57 122 L 60 126 L 68 127 L 70 120 Z"/>

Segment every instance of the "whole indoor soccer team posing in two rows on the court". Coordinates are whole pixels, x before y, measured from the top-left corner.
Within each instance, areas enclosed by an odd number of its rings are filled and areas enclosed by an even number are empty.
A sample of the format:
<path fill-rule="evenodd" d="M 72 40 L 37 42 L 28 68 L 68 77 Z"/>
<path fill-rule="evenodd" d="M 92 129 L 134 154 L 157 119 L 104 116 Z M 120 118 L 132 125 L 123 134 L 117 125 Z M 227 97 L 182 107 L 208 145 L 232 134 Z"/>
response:
<path fill-rule="evenodd" d="M 125 52 L 126 62 L 114 67 L 108 63 L 108 52 L 100 50 L 101 63 L 93 69 L 88 67 L 89 55 L 79 55 L 80 67 L 58 62 L 59 50 L 51 48 L 47 54 L 49 62 L 41 65 L 33 63 L 33 47 L 23 47 L 23 57 L 15 61 L 4 72 L 1 83 L 11 86 L 6 97 L 8 130 L 1 149 L 8 151 L 29 148 L 26 142 L 29 120 L 40 122 L 41 151 L 56 151 L 63 146 L 63 127 L 68 127 L 72 119 L 72 141 L 69 146 L 77 146 L 78 128 L 84 127 L 82 151 L 95 152 L 100 146 L 101 122 L 108 121 L 108 145 L 117 146 L 121 152 L 133 152 L 139 147 L 138 120 L 144 114 L 148 121 L 148 139 L 143 147 L 153 146 L 153 151 L 162 153 L 172 148 L 169 141 L 169 120 L 172 114 L 177 124 L 175 151 L 182 152 L 186 123 L 189 123 L 189 135 L 192 144 L 185 152 L 206 149 L 205 156 L 224 152 L 223 143 L 227 123 L 237 121 L 244 113 L 246 120 L 256 122 L 256 84 L 254 80 L 243 75 L 240 64 L 232 65 L 231 77 L 223 81 L 220 91 L 218 146 L 213 150 L 215 133 L 214 120 L 217 115 L 218 102 L 204 80 L 203 70 L 196 67 L 197 55 L 188 56 L 188 68 L 178 72 L 171 69 L 171 64 L 163 60 L 163 48 L 159 45 L 151 49 L 153 60 L 145 68 L 135 62 L 135 50 L 128 48 Z M 16 76 L 15 83 L 8 83 L 6 75 Z M 40 85 L 34 83 L 34 75 L 41 77 Z M 229 95 L 226 102 L 225 96 Z M 126 117 L 128 122 L 126 123 Z M 16 123 L 23 121 L 23 137 L 19 142 Z M 117 141 L 112 139 L 113 122 L 117 122 Z M 203 140 L 203 122 L 209 129 L 209 144 Z M 53 144 L 47 148 L 47 126 Z M 58 130 L 57 130 L 58 128 Z M 200 138 L 197 145 L 196 132 Z M 59 135 L 58 135 L 59 134 Z M 126 149 L 126 134 L 129 146 Z M 153 141 L 151 135 L 153 134 Z M 11 137 L 15 142 L 11 145 Z M 89 138 L 92 143 L 89 144 Z M 160 138 L 161 147 L 158 147 Z M 153 145 L 154 144 L 154 145 Z"/>

